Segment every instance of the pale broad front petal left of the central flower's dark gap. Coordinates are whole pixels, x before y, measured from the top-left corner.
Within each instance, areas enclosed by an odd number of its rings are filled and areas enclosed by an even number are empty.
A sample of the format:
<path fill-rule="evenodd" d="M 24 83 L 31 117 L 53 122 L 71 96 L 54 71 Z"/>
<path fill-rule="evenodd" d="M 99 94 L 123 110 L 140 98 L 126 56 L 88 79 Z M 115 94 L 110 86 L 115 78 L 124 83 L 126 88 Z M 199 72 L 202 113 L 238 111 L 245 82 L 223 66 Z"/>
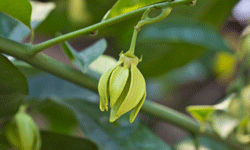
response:
<path fill-rule="evenodd" d="M 110 107 L 112 108 L 120 97 L 125 84 L 128 80 L 129 69 L 127 67 L 117 67 L 110 77 L 109 94 L 110 94 Z"/>

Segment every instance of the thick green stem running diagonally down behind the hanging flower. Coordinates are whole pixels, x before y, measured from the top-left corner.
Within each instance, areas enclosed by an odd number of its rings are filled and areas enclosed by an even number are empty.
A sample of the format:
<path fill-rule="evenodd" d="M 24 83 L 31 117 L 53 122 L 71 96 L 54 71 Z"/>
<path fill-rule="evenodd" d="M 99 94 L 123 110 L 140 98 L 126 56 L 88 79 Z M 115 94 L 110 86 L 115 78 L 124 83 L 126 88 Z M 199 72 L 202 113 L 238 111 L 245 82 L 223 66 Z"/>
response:
<path fill-rule="evenodd" d="M 30 65 L 44 70 L 61 79 L 67 80 L 81 87 L 86 87 L 94 92 L 98 92 L 98 80 L 91 78 L 88 75 L 83 74 L 81 71 L 76 70 L 44 54 L 39 53 L 35 56 L 29 56 L 29 49 L 30 45 L 20 44 L 15 41 L 0 37 L 0 52 L 23 60 Z M 198 122 L 178 111 L 162 106 L 150 100 L 145 101 L 144 105 L 142 106 L 142 112 L 149 114 L 154 118 L 166 121 L 191 133 L 200 133 L 200 125 Z M 207 128 L 203 135 L 221 141 L 232 147 L 243 147 L 243 145 L 233 138 L 222 140 L 211 128 Z"/>

